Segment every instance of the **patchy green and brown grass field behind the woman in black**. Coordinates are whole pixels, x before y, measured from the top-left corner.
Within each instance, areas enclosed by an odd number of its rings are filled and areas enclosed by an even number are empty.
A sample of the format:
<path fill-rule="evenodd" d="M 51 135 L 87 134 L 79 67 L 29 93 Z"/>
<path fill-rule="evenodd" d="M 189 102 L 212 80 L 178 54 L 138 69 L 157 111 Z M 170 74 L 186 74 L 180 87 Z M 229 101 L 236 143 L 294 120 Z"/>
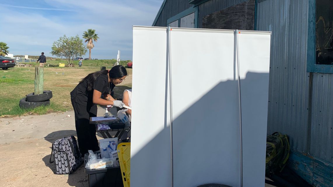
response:
<path fill-rule="evenodd" d="M 88 60 L 87 60 L 88 61 Z M 34 92 L 35 67 L 14 67 L 0 70 L 0 117 L 28 114 L 46 114 L 72 109 L 70 92 L 78 82 L 91 72 L 100 70 L 100 65 L 110 69 L 111 62 L 98 61 L 95 66 L 84 63 L 82 67 L 44 67 L 44 90 L 52 90 L 53 97 L 49 106 L 35 109 L 21 109 L 19 101 Z M 89 62 L 88 61 L 88 62 Z M 6 72 L 7 71 L 7 72 Z M 115 98 L 122 98 L 123 91 L 132 87 L 132 69 L 127 69 L 128 77 L 114 89 Z M 64 73 L 64 74 L 62 74 Z"/>

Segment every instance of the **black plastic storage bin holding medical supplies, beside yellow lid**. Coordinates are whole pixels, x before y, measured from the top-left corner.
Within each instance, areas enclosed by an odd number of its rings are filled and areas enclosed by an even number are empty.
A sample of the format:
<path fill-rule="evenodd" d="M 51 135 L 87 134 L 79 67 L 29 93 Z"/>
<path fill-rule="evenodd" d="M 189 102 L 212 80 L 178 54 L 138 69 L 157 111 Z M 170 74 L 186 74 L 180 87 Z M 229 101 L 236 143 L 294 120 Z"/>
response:
<path fill-rule="evenodd" d="M 84 155 L 84 165 L 88 162 L 88 155 Z M 85 173 L 89 177 L 90 187 L 124 187 L 120 166 L 101 169 L 87 169 Z"/>

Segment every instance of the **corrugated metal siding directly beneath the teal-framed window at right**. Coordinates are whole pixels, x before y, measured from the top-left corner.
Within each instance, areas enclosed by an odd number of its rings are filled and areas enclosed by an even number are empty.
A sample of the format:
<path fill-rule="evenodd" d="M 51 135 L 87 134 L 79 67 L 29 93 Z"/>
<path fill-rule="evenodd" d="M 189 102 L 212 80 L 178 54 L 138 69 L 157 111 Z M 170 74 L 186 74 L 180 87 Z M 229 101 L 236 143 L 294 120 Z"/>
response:
<path fill-rule="evenodd" d="M 333 74 L 313 73 L 310 155 L 333 163 Z"/>

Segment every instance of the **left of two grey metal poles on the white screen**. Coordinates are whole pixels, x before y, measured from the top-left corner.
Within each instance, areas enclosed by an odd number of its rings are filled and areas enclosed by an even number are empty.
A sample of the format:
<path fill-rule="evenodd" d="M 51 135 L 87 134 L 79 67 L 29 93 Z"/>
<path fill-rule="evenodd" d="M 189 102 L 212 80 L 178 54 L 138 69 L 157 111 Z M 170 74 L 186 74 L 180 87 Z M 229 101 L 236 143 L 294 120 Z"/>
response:
<path fill-rule="evenodd" d="M 170 94 L 170 144 L 171 144 L 171 186 L 173 187 L 173 135 L 172 135 L 172 79 L 171 79 L 171 28 L 167 28 L 167 53 L 168 53 L 168 64 L 169 64 L 169 94 Z"/>

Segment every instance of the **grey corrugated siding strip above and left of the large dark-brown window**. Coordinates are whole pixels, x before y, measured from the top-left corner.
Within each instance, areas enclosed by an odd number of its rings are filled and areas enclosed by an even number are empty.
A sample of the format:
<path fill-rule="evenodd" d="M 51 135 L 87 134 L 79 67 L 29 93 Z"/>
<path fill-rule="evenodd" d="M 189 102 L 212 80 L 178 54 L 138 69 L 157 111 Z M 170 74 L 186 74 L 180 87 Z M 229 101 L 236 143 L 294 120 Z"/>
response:
<path fill-rule="evenodd" d="M 216 11 L 236 5 L 247 0 L 210 0 L 199 5 L 198 28 L 202 28 L 202 18 Z"/>

